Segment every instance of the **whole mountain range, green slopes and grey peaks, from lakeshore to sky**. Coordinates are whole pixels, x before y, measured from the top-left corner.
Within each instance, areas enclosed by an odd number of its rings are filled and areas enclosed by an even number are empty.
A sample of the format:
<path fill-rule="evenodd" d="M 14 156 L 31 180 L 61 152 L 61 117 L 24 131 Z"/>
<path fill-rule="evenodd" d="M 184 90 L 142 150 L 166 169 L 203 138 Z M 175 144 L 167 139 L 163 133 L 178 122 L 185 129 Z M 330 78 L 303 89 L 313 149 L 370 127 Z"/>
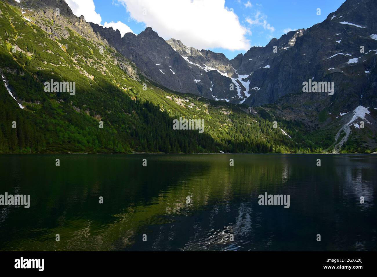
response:
<path fill-rule="evenodd" d="M 374 152 L 374 11 L 347 0 L 228 60 L 152 28 L 122 38 L 63 0 L 0 2 L 0 152 Z M 76 91 L 46 91 L 50 80 Z M 204 133 L 173 130 L 180 118 L 204 120 Z"/>

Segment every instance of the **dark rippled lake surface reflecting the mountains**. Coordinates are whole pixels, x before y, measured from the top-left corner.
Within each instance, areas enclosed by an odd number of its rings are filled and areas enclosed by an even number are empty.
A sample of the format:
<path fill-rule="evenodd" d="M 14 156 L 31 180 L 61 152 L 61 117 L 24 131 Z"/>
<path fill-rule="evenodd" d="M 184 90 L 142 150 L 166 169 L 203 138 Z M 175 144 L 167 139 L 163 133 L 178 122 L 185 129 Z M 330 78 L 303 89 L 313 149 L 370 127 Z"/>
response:
<path fill-rule="evenodd" d="M 0 250 L 375 251 L 376 177 L 376 155 L 0 155 L 0 194 L 31 197 L 0 206 Z"/>

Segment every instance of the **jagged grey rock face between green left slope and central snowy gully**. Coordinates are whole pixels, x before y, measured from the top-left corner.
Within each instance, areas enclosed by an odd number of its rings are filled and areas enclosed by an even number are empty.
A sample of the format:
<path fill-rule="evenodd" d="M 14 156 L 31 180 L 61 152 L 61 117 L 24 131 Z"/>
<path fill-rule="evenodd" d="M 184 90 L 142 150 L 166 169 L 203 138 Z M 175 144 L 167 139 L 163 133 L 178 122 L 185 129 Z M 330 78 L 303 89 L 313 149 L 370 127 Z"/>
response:
<path fill-rule="evenodd" d="M 150 27 L 139 35 L 127 33 L 122 38 L 118 30 L 90 24 L 94 32 L 133 61 L 148 78 L 168 89 L 209 99 L 225 99 L 237 95 L 236 90 L 229 92 L 232 81 L 225 77 L 227 73 L 211 67 L 227 70 L 228 75 L 234 74 L 230 62 L 223 54 L 205 50 L 200 52 L 184 46 L 180 41 L 170 40 L 173 46 L 177 46 L 177 49 L 173 49 Z M 193 53 L 189 56 L 186 50 L 190 49 Z"/>

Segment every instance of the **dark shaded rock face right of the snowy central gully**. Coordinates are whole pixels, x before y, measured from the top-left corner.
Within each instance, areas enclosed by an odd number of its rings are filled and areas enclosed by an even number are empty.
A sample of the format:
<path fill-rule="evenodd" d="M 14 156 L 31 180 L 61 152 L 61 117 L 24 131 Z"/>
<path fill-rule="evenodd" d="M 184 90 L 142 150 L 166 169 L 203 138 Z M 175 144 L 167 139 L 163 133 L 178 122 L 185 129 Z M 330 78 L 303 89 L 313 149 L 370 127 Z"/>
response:
<path fill-rule="evenodd" d="M 321 95 L 327 104 L 376 106 L 375 12 L 375 1 L 347 0 L 322 23 L 289 32 L 265 47 L 252 47 L 245 55 L 238 55 L 231 60 L 234 69 L 239 74 L 251 74 L 250 87 L 261 88 L 250 91 L 244 103 L 274 103 L 290 93 L 301 93 L 305 100 L 310 95 L 302 93 L 303 82 L 313 80 L 334 82 L 334 95 Z"/>

